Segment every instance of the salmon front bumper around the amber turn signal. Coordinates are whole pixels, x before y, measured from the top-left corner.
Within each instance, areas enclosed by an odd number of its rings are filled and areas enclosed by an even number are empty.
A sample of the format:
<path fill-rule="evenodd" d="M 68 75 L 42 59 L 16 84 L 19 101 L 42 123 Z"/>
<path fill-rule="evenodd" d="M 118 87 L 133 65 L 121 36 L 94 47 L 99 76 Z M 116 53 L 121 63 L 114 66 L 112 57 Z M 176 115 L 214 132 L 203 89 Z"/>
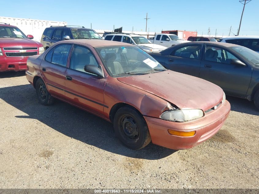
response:
<path fill-rule="evenodd" d="M 152 143 L 174 150 L 192 148 L 215 135 L 224 124 L 230 112 L 230 104 L 226 100 L 214 111 L 208 112 L 204 117 L 187 122 L 172 122 L 158 118 L 144 116 Z M 196 131 L 191 137 L 170 135 L 168 129 L 174 131 Z"/>

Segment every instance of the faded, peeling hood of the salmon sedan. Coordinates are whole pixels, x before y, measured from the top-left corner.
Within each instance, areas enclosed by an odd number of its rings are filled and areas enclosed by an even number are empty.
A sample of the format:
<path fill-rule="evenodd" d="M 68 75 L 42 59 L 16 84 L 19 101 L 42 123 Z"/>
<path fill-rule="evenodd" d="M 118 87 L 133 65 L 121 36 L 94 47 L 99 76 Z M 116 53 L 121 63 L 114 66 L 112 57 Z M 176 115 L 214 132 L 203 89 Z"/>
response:
<path fill-rule="evenodd" d="M 223 90 L 219 86 L 171 70 L 117 79 L 161 97 L 181 109 L 206 111 L 223 100 Z"/>

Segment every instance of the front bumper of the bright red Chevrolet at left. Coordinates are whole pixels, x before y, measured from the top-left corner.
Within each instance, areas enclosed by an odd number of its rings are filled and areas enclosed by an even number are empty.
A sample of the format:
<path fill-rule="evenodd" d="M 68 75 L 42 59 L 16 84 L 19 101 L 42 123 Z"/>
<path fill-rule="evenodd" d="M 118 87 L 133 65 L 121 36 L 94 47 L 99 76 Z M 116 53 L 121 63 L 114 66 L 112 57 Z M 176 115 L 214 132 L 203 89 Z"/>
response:
<path fill-rule="evenodd" d="M 0 56 L 1 71 L 25 71 L 27 70 L 27 59 L 29 57 L 4 57 Z"/>

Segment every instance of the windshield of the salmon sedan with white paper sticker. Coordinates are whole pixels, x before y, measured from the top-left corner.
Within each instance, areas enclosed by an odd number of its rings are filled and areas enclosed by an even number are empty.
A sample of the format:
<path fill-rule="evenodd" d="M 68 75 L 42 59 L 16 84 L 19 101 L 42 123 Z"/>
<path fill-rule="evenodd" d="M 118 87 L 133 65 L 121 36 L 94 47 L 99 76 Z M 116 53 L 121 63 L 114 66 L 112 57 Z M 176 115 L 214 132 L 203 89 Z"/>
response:
<path fill-rule="evenodd" d="M 149 74 L 166 70 L 160 63 L 136 46 L 97 47 L 111 76 Z"/>

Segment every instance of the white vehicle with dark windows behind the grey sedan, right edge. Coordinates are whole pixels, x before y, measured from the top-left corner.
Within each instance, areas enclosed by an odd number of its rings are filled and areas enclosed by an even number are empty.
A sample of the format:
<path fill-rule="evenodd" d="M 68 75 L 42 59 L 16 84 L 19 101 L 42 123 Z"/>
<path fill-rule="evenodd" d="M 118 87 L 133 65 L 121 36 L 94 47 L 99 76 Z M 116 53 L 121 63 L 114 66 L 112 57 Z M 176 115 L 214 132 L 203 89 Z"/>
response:
<path fill-rule="evenodd" d="M 259 36 L 232 36 L 222 38 L 219 42 L 237 44 L 259 53 Z"/>

